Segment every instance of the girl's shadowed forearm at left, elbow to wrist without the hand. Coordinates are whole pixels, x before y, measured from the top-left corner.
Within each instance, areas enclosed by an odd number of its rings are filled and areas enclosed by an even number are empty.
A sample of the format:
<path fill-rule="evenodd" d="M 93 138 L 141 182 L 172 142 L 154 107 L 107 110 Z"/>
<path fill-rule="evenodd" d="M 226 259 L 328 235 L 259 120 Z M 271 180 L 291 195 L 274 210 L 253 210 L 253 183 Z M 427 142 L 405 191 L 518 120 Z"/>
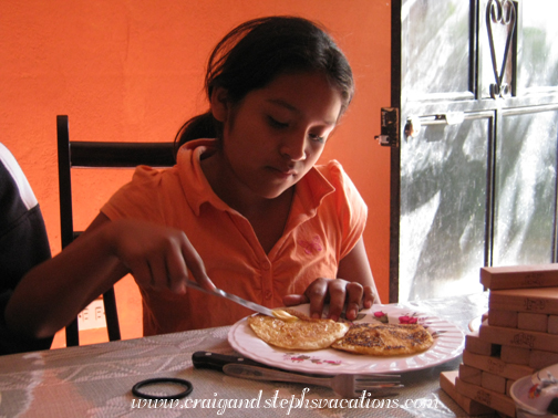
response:
<path fill-rule="evenodd" d="M 126 274 L 111 254 L 108 227 L 101 213 L 60 254 L 24 275 L 6 307 L 11 330 L 35 338 L 54 335 Z"/>

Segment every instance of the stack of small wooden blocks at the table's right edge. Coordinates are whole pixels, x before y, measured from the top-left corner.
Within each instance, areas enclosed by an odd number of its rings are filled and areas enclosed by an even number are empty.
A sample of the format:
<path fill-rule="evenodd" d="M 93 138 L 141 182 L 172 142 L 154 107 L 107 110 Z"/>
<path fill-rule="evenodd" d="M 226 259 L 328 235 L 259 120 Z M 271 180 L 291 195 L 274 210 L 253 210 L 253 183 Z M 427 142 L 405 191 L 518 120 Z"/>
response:
<path fill-rule="evenodd" d="M 441 387 L 468 415 L 515 417 L 513 383 L 558 363 L 558 264 L 483 268 L 480 283 L 488 313 Z"/>

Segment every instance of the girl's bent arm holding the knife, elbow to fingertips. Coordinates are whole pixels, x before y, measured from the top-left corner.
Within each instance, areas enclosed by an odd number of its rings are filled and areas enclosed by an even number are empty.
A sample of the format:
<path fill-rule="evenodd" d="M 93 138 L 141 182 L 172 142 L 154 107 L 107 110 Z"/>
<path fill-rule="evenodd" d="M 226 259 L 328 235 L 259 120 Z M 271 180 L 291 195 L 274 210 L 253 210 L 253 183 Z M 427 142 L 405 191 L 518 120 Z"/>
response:
<path fill-rule="evenodd" d="M 6 322 L 28 336 L 51 336 L 127 273 L 143 286 L 186 292 L 186 265 L 204 288 L 214 286 L 184 232 L 110 221 L 101 213 L 60 254 L 25 274 L 6 307 Z"/>

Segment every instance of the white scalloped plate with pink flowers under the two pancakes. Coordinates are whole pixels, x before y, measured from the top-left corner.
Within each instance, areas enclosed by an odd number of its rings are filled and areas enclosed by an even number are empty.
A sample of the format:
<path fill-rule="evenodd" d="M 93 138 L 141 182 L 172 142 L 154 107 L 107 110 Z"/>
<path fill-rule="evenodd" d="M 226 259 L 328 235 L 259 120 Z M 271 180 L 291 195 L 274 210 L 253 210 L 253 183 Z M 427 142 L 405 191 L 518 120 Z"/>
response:
<path fill-rule="evenodd" d="M 296 309 L 307 315 L 309 313 L 308 304 Z M 273 347 L 258 338 L 246 317 L 232 325 L 228 341 L 241 355 L 268 366 L 323 375 L 420 370 L 448 362 L 463 352 L 465 336 L 456 325 L 430 314 L 413 312 L 411 309 L 374 305 L 361 311 L 354 322 L 374 322 L 373 318 L 379 316 L 391 324 L 417 322 L 433 334 L 434 344 L 424 353 L 391 357 L 364 356 L 332 348 L 293 352 Z"/>

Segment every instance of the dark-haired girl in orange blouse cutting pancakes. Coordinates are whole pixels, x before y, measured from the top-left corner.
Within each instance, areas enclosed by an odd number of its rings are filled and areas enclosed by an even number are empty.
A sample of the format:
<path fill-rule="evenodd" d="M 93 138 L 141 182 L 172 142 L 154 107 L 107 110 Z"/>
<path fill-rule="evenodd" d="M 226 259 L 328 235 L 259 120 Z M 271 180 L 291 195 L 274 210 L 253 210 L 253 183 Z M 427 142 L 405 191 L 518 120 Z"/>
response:
<path fill-rule="evenodd" d="M 314 166 L 353 91 L 347 59 L 310 21 L 234 29 L 210 55 L 210 111 L 178 133 L 176 166 L 137 168 L 80 239 L 24 278 L 10 326 L 52 335 L 126 273 L 145 335 L 251 313 L 186 291 L 192 279 L 269 307 L 309 302 L 314 317 L 329 302 L 338 320 L 347 305 L 354 318 L 378 297 L 366 207 L 337 161 Z"/>

